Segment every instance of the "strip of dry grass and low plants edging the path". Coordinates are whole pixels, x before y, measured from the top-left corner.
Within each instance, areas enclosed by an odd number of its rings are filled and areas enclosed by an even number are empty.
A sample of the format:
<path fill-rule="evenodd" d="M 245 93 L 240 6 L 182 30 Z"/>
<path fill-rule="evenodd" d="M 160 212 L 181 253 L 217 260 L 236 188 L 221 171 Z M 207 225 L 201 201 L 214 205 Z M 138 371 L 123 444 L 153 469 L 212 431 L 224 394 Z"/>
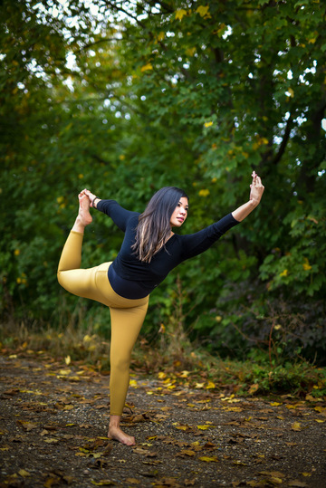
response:
<path fill-rule="evenodd" d="M 0 333 L 0 349 L 5 356 L 49 356 L 58 361 L 83 362 L 101 372 L 110 370 L 110 340 L 95 333 L 68 326 L 64 330 L 27 329 L 24 324 L 4 324 Z M 278 359 L 272 364 L 269 353 L 238 361 L 221 359 L 199 345 L 190 343 L 182 330 L 173 336 L 161 334 L 157 343 L 150 344 L 140 337 L 131 369 L 138 375 L 167 379 L 189 388 L 214 389 L 238 396 L 292 395 L 316 399 L 326 396 L 326 368 L 316 368 L 298 359 Z"/>

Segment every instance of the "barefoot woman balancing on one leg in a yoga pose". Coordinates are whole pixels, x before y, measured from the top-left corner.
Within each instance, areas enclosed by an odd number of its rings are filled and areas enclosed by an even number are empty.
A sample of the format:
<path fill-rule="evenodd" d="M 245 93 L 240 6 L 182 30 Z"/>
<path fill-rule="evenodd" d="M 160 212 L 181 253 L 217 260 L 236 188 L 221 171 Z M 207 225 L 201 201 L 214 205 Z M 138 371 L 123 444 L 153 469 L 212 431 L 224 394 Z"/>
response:
<path fill-rule="evenodd" d="M 135 438 L 120 429 L 120 417 L 129 387 L 129 362 L 149 304 L 149 293 L 186 259 L 201 254 L 221 235 L 249 215 L 264 192 L 255 173 L 245 205 L 196 234 L 178 235 L 187 218 L 188 197 L 176 187 L 164 187 L 152 196 L 145 212 L 129 212 L 114 200 L 101 200 L 84 189 L 79 194 L 79 213 L 62 250 L 58 281 L 68 292 L 100 301 L 110 307 L 110 425 L 108 436 L 125 445 Z M 113 263 L 81 269 L 82 238 L 92 217 L 90 206 L 110 215 L 125 233 Z"/>

